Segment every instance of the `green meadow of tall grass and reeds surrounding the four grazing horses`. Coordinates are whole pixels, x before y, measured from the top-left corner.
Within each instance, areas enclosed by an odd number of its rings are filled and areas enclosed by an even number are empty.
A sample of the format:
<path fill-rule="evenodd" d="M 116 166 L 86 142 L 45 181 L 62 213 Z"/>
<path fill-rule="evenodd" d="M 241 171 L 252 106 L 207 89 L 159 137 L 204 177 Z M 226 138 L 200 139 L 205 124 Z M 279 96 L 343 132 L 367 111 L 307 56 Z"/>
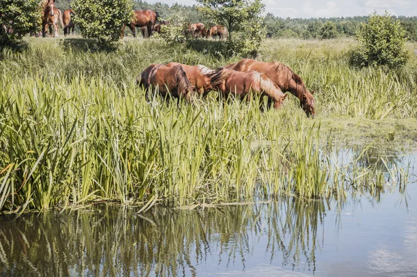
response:
<path fill-rule="evenodd" d="M 116 201 L 196 207 L 291 195 L 333 198 L 407 183 L 407 168 L 372 149 L 415 148 L 416 44 L 406 68 L 351 68 L 353 40 L 265 40 L 257 59 L 281 61 L 316 90 L 316 119 L 295 97 L 280 110 L 145 101 L 135 79 L 152 63 L 217 68 L 238 61 L 209 47 L 126 38 L 99 52 L 81 38 L 31 38 L 0 53 L 0 210 Z M 206 42 L 211 43 L 211 42 Z M 335 156 L 361 145 L 351 161 Z"/>

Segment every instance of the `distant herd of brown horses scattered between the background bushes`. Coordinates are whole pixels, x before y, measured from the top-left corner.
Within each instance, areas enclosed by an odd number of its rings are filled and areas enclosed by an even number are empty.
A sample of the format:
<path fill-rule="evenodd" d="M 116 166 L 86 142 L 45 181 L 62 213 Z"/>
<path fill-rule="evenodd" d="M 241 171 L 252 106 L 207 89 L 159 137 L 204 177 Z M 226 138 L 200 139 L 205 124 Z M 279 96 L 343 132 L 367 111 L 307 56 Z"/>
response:
<path fill-rule="evenodd" d="M 76 15 L 74 10 L 68 9 L 62 12 L 55 6 L 56 0 L 41 0 L 42 12 L 42 32 L 33 33 L 32 35 L 42 35 L 43 37 L 47 35 L 47 29 L 49 29 L 49 36 L 58 38 L 58 27 L 59 25 L 64 29 L 64 35 L 70 35 L 70 31 L 74 33 L 75 24 L 72 21 L 72 16 Z M 156 24 L 160 22 L 159 24 Z M 133 37 L 136 37 L 136 28 L 140 28 L 142 37 L 150 37 L 153 33 L 161 33 L 162 25 L 169 25 L 169 22 L 165 22 L 160 19 L 158 12 L 154 10 L 136 10 L 134 11 L 133 18 L 131 22 L 127 22 L 122 26 L 121 37 L 124 35 L 124 29 L 126 26 L 131 30 Z M 3 26 L 2 29 L 5 29 L 6 26 Z M 5 30 L 13 32 L 12 30 Z M 211 26 L 206 28 L 202 23 L 193 23 L 187 24 L 184 27 L 184 33 L 188 32 L 189 35 L 193 37 L 201 36 L 202 38 L 218 37 L 223 39 L 227 36 L 227 29 L 221 25 Z"/>

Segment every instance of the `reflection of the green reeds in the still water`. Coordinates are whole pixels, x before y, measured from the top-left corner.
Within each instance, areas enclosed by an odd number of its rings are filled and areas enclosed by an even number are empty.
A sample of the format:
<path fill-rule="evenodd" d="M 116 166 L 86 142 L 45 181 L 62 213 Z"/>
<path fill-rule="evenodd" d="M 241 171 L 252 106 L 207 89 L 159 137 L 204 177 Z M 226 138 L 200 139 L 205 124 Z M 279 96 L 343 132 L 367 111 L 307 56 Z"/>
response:
<path fill-rule="evenodd" d="M 245 269 L 260 244 L 271 264 L 314 270 L 324 215 L 325 203 L 295 198 L 144 215 L 114 206 L 25 214 L 0 223 L 0 275 L 195 275 L 199 264 Z"/>

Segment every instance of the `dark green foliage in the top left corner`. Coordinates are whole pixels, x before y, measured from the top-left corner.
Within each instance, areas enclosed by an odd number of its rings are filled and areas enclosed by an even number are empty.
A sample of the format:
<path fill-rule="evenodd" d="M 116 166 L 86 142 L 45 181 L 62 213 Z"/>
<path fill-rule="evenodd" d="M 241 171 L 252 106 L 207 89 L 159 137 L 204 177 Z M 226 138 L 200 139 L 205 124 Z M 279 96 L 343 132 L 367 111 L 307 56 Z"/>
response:
<path fill-rule="evenodd" d="M 39 0 L 1 0 L 0 42 L 20 40 L 26 33 L 40 31 Z"/>

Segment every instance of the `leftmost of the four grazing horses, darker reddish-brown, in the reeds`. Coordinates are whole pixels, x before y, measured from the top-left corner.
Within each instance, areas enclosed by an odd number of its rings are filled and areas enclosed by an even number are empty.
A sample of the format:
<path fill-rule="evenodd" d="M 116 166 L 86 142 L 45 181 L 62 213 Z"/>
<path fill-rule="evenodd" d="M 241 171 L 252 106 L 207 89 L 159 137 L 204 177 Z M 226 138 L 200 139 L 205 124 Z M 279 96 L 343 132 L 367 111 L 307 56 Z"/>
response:
<path fill-rule="evenodd" d="M 149 65 L 143 70 L 140 77 L 136 78 L 139 84 L 146 90 L 146 100 L 149 102 L 151 87 L 158 89 L 158 93 L 165 97 L 170 94 L 173 97 L 183 97 L 188 102 L 193 102 L 193 86 L 188 81 L 186 72 L 181 65 L 167 67 L 161 64 Z"/>

